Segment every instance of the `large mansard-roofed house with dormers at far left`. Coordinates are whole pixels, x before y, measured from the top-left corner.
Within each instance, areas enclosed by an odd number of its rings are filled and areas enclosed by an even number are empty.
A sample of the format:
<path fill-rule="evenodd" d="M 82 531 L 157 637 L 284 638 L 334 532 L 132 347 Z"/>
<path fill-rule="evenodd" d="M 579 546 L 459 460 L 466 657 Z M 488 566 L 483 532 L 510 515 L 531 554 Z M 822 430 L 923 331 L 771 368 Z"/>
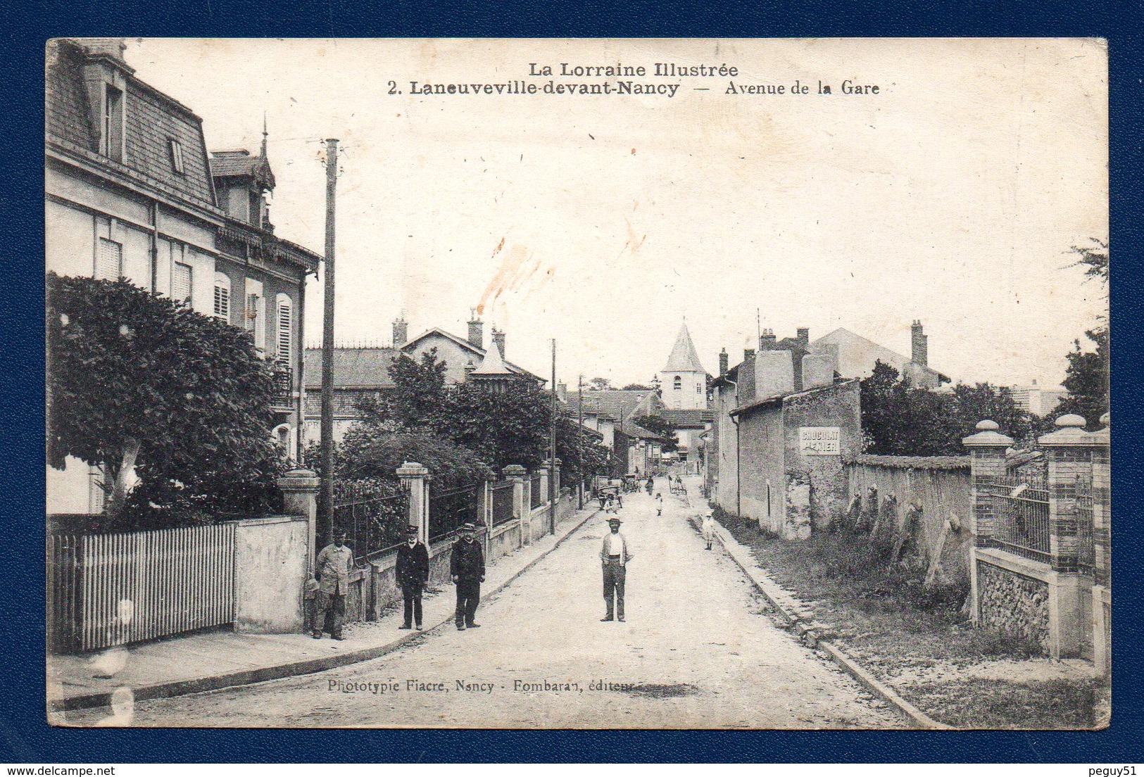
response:
<path fill-rule="evenodd" d="M 47 53 L 46 268 L 126 278 L 251 332 L 278 374 L 273 434 L 301 443 L 304 283 L 321 257 L 275 235 L 267 133 L 257 154 L 208 153 L 202 120 L 135 77 L 118 39 Z M 100 474 L 48 468 L 49 513 L 102 510 Z"/>

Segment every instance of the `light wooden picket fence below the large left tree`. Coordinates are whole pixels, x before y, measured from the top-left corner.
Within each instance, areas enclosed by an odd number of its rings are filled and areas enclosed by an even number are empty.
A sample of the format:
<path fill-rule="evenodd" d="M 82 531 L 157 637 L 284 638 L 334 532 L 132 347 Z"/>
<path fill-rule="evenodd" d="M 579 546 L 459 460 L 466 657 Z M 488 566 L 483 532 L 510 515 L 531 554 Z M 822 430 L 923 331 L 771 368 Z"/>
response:
<path fill-rule="evenodd" d="M 48 629 L 87 651 L 235 620 L 235 525 L 48 537 Z"/>

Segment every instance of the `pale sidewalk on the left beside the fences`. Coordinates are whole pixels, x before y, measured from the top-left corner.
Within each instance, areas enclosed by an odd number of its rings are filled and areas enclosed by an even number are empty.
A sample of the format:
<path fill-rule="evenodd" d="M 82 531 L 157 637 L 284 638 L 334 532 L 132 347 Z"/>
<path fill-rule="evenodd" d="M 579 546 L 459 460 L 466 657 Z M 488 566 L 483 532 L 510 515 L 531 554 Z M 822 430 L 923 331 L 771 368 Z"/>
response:
<path fill-rule="evenodd" d="M 551 553 L 596 512 L 588 505 L 559 524 L 555 534 L 496 558 L 487 568 L 482 602 Z M 118 688 L 129 688 L 136 700 L 157 699 L 366 661 L 424 639 L 444 624 L 451 627 L 454 604 L 453 587 L 443 586 L 424 598 L 426 631 L 399 631 L 398 606 L 380 620 L 348 624 L 341 642 L 308 634 L 213 631 L 84 656 L 48 655 L 48 703 L 55 709 L 79 709 L 110 704 Z"/>

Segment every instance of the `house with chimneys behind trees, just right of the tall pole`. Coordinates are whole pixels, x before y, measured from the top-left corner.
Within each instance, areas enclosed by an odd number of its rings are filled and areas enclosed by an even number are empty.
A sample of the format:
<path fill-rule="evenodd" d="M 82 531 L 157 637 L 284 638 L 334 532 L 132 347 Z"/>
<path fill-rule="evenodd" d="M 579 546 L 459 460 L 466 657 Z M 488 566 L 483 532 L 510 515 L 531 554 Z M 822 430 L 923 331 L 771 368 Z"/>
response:
<path fill-rule="evenodd" d="M 408 339 L 410 325 L 404 317 L 394 322 L 392 344 L 334 348 L 334 441 L 364 418 L 359 405 L 376 399 L 394 388 L 389 367 L 400 355 L 420 362 L 436 349 L 437 359 L 445 363 L 445 382 L 463 383 L 480 380 L 492 383 L 524 380 L 540 387 L 545 379 L 505 359 L 506 334 L 492 330 L 494 348 L 486 349 L 484 322 L 472 312 L 467 338 L 442 328 L 431 328 Z M 495 352 L 494 352 L 495 351 Z M 321 426 L 321 349 L 305 349 L 305 433 L 308 443 L 320 438 Z"/>

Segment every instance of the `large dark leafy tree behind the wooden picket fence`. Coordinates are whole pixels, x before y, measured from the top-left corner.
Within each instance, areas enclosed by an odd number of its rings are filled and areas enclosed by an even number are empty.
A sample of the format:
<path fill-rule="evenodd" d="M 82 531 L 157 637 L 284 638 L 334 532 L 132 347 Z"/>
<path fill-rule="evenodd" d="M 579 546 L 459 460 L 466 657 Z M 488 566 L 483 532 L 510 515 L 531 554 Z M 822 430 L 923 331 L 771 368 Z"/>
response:
<path fill-rule="evenodd" d="M 104 467 L 112 521 L 272 500 L 273 378 L 247 332 L 126 280 L 47 276 L 48 461 Z"/>

